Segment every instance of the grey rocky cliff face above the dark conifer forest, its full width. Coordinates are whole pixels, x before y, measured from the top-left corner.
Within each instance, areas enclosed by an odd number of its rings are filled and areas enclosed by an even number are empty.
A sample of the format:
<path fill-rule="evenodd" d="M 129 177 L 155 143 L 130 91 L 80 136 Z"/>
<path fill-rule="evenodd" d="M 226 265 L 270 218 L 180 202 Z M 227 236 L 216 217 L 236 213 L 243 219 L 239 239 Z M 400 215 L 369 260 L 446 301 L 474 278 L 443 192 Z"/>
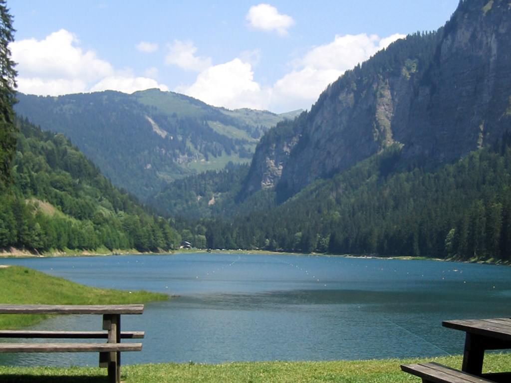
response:
<path fill-rule="evenodd" d="M 445 27 L 392 44 L 331 84 L 288 135 L 263 139 L 243 193 L 278 184 L 290 196 L 392 143 L 405 159 L 455 160 L 511 128 L 510 100 L 511 3 L 460 2 Z"/>

